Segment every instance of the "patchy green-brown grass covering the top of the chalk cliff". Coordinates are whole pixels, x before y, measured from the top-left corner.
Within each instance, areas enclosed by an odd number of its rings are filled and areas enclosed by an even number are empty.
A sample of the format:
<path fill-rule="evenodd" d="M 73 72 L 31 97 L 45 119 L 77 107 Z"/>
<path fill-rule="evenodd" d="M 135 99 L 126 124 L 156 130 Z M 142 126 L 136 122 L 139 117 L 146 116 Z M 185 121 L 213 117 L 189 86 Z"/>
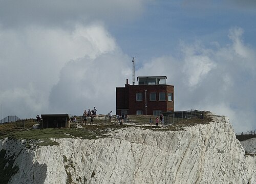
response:
<path fill-rule="evenodd" d="M 177 131 L 183 130 L 186 126 L 193 126 L 196 124 L 204 124 L 211 121 L 210 117 L 205 116 L 204 120 L 201 119 L 183 119 L 179 122 L 169 125 L 169 126 L 153 126 L 150 127 L 148 122 L 152 117 L 153 122 L 156 116 L 145 116 L 145 115 L 130 115 L 129 123 L 119 125 L 117 119 L 114 116 L 113 121 L 108 122 L 108 118 L 104 117 L 95 118 L 94 125 L 82 125 L 80 128 L 76 128 L 72 124 L 71 128 L 46 128 L 46 129 L 32 129 L 32 126 L 36 123 L 34 120 L 25 120 L 22 122 L 9 123 L 0 126 L 0 139 L 8 137 L 8 139 L 14 140 L 27 140 L 27 147 L 30 147 L 31 144 L 38 146 L 53 146 L 58 145 L 57 142 L 52 139 L 61 139 L 61 138 L 79 138 L 79 139 L 98 139 L 108 137 L 109 130 L 115 130 L 120 128 L 130 128 L 130 127 L 142 127 L 144 129 L 151 129 L 152 131 Z M 79 124 L 79 119 L 77 118 Z M 155 125 L 153 123 L 153 125 Z"/>

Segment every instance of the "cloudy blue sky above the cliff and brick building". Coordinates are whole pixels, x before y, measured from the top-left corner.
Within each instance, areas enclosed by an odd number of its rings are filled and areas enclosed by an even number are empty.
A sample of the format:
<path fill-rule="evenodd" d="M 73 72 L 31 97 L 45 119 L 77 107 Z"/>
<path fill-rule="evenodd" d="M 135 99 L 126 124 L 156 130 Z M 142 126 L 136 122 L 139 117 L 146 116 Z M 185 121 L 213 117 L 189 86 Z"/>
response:
<path fill-rule="evenodd" d="M 1 117 L 98 114 L 116 87 L 167 76 L 175 110 L 229 117 L 256 129 L 253 0 L 0 0 Z"/>

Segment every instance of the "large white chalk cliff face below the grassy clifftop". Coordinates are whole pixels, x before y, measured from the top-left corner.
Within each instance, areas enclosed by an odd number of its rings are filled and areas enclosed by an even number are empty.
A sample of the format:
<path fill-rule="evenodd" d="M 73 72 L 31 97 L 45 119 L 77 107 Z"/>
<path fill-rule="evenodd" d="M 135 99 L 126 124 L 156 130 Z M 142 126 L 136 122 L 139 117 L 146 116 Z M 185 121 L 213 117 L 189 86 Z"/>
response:
<path fill-rule="evenodd" d="M 19 168 L 8 183 L 256 183 L 256 156 L 245 154 L 226 117 L 179 131 L 130 127 L 55 141 L 26 148 L 3 140 Z"/>

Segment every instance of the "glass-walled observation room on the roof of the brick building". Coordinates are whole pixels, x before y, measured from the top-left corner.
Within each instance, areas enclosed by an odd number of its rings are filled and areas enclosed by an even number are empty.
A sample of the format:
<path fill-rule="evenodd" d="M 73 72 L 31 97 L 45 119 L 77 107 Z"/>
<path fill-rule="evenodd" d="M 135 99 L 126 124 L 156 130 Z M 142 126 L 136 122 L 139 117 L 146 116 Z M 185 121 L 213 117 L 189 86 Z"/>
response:
<path fill-rule="evenodd" d="M 166 76 L 137 77 L 139 85 L 158 85 L 166 84 Z"/>

